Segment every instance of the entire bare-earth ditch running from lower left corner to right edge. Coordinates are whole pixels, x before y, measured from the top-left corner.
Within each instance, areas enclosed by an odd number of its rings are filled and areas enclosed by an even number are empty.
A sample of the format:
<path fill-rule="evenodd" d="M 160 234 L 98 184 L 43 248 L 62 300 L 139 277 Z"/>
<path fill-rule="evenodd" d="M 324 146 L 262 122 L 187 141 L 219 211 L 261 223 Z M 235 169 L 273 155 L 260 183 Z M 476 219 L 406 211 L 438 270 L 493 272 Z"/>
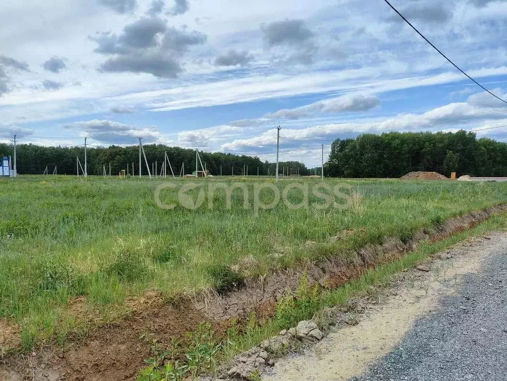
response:
<path fill-rule="evenodd" d="M 448 220 L 432 231 L 421 231 L 406 243 L 389 238 L 383 245 L 366 246 L 347 260 L 330 258 L 269 274 L 223 296 L 207 293 L 168 305 L 158 293 L 149 292 L 127 303 L 133 310 L 131 319 L 101 327 L 82 344 L 65 350 L 51 348 L 40 354 L 4 356 L 0 360 L 0 379 L 135 379 L 137 371 L 146 365 L 144 359 L 150 356 L 154 339 L 167 345 L 171 338 L 184 338 L 202 322 L 211 323 L 220 335 L 231 318 L 244 318 L 254 310 L 261 318 L 271 317 L 276 302 L 286 292 L 294 292 L 304 274 L 311 283 L 336 288 L 359 278 L 371 267 L 403 257 L 423 240 L 445 239 L 506 211 L 507 204 L 502 204 L 473 212 Z"/>

